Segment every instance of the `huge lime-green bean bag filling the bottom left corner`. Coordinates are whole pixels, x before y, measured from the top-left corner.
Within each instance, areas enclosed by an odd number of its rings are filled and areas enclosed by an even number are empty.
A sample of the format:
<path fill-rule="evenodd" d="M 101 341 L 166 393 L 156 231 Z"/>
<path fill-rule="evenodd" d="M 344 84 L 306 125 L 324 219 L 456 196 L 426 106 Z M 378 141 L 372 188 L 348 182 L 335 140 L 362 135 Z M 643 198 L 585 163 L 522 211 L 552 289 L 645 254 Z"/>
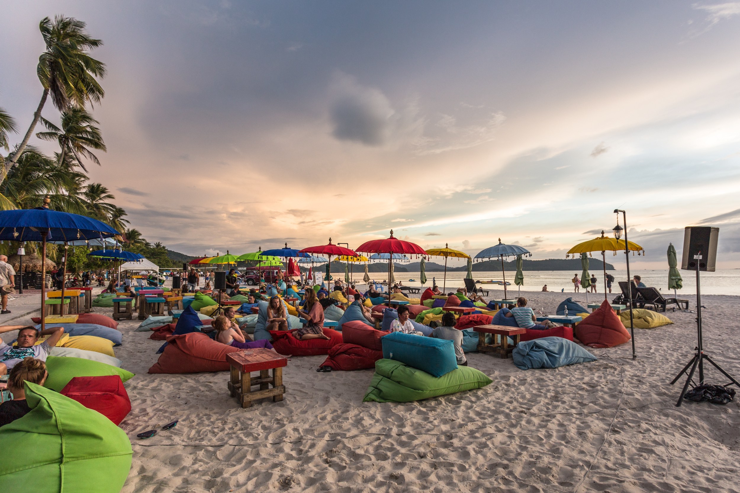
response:
<path fill-rule="evenodd" d="M 0 446 L 6 452 L 0 460 L 4 492 L 121 491 L 132 455 L 124 430 L 99 412 L 36 384 L 26 383 L 26 400 L 31 411 L 0 428 Z"/>

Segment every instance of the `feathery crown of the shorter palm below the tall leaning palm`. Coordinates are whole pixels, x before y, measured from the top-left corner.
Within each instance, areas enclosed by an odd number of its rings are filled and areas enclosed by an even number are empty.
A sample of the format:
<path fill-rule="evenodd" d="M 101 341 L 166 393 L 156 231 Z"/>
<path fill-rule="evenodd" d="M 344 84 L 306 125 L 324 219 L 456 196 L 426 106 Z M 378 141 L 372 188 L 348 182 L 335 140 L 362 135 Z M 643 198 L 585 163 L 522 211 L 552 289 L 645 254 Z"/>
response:
<path fill-rule="evenodd" d="M 107 149 L 100 129 L 95 126 L 98 120 L 92 118 L 92 115 L 84 108 L 71 106 L 61 112 L 61 129 L 46 118 L 41 118 L 41 122 L 50 132 L 38 132 L 36 137 L 43 140 L 56 140 L 61 149 L 60 160 L 64 160 L 67 154 L 71 154 L 81 168 L 87 171 L 80 158 L 80 155 L 83 155 L 100 166 L 98 157 L 92 154 L 88 148 L 100 149 L 103 152 Z"/>

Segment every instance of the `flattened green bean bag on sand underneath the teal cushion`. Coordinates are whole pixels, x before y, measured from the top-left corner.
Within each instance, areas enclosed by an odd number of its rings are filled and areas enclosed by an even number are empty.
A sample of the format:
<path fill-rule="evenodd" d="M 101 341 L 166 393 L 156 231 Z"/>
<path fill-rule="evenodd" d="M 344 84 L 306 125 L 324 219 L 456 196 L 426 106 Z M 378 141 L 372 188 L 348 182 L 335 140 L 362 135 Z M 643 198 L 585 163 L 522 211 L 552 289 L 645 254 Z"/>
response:
<path fill-rule="evenodd" d="M 451 342 L 451 341 L 448 341 Z M 474 390 L 491 383 L 491 378 L 471 367 L 458 367 L 434 377 L 401 361 L 379 359 L 363 402 L 411 402 Z"/>

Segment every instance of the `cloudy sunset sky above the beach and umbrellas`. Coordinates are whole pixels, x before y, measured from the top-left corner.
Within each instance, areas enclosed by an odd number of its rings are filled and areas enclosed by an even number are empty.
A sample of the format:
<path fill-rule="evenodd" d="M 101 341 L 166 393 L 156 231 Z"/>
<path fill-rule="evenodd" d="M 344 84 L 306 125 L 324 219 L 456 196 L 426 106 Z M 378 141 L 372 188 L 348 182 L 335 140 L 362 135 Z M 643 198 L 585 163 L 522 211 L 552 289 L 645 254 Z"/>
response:
<path fill-rule="evenodd" d="M 72 16 L 104 41 L 108 151 L 90 177 L 149 242 L 356 248 L 392 229 L 563 258 L 620 208 L 645 248 L 636 268 L 665 268 L 669 242 L 680 256 L 689 225 L 718 226 L 718 267 L 740 268 L 740 1 L 0 9 L 0 107 L 22 132 L 41 97 L 38 21 Z"/>

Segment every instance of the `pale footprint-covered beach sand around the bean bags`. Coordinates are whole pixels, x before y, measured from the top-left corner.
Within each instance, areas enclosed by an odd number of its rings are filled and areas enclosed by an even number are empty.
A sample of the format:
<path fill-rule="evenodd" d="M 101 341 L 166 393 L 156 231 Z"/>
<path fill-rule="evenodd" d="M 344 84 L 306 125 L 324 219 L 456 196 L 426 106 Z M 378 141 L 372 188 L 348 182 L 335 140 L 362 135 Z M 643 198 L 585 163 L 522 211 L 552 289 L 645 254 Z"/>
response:
<path fill-rule="evenodd" d="M 530 294 L 530 306 L 553 313 L 568 296 Z M 707 352 L 740 378 L 740 298 L 702 301 Z M 669 383 L 696 325 L 693 313 L 667 316 L 676 324 L 636 330 L 636 360 L 629 343 L 556 370 L 472 353 L 493 384 L 409 404 L 363 403 L 372 370 L 317 373 L 324 356 L 295 357 L 283 402 L 249 409 L 229 397 L 228 372 L 147 374 L 162 342 L 121 322 L 116 356 L 137 373 L 121 424 L 134 450 L 123 491 L 739 492 L 740 396 L 674 406 L 680 387 Z M 135 436 L 174 419 L 169 432 Z"/>

